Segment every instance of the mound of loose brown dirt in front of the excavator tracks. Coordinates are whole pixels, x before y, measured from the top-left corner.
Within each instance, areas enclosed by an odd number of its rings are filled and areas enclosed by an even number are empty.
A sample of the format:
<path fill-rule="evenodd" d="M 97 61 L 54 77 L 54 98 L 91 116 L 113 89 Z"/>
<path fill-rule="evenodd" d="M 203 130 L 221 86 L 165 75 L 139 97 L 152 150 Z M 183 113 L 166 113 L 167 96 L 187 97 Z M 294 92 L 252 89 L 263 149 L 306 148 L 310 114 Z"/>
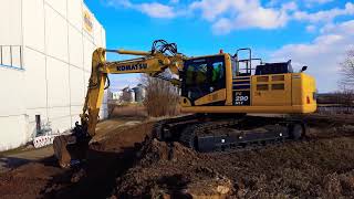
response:
<path fill-rule="evenodd" d="M 231 180 L 200 165 L 198 155 L 178 143 L 146 139 L 135 166 L 117 179 L 116 196 L 188 198 L 225 197 L 232 192 Z"/>

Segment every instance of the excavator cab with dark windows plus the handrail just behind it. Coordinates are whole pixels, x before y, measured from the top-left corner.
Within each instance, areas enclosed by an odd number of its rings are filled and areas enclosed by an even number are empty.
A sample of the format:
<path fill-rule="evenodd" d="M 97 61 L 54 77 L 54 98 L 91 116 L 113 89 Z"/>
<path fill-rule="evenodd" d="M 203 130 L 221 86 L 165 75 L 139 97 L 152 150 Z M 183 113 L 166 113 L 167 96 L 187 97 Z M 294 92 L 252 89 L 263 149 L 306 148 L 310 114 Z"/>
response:
<path fill-rule="evenodd" d="M 246 53 L 243 53 L 246 52 Z M 240 54 L 246 55 L 240 59 Z M 184 70 L 180 72 L 181 80 L 181 105 L 187 106 L 226 106 L 238 105 L 240 103 L 232 103 L 232 95 L 240 95 L 235 93 L 235 90 L 242 90 L 241 96 L 243 105 L 250 105 L 250 84 L 249 78 L 254 69 L 252 69 L 252 61 L 261 59 L 252 57 L 251 49 L 239 49 L 232 56 L 220 51 L 219 54 L 191 57 L 185 61 Z M 254 73 L 254 72 L 253 72 Z M 232 83 L 239 80 L 238 83 Z M 196 109 L 188 108 L 188 112 Z M 208 111 L 202 111 L 208 112 Z M 225 113 L 216 108 L 210 111 L 217 113 Z"/>

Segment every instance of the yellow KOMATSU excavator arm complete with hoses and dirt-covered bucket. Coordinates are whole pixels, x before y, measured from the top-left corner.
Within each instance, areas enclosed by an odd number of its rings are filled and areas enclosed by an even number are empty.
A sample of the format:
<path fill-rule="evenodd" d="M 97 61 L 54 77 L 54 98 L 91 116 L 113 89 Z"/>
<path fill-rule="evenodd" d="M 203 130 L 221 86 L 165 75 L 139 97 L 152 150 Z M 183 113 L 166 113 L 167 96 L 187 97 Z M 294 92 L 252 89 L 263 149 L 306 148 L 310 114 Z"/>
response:
<path fill-rule="evenodd" d="M 138 55 L 139 57 L 123 61 L 106 61 L 106 53 Z M 160 73 L 169 70 L 178 75 L 187 57 L 177 52 L 174 43 L 163 40 L 154 42 L 150 51 L 126 51 L 96 49 L 92 55 L 92 71 L 81 117 L 81 124 L 75 123 L 71 135 L 55 137 L 54 155 L 61 167 L 70 167 L 73 159 L 83 159 L 88 142 L 95 135 L 102 105 L 104 90 L 110 86 L 108 74 L 145 73 L 153 77 L 162 77 Z M 167 78 L 165 78 L 167 80 Z M 178 85 L 179 80 L 168 78 Z M 106 85 L 108 84 L 108 85 Z"/>

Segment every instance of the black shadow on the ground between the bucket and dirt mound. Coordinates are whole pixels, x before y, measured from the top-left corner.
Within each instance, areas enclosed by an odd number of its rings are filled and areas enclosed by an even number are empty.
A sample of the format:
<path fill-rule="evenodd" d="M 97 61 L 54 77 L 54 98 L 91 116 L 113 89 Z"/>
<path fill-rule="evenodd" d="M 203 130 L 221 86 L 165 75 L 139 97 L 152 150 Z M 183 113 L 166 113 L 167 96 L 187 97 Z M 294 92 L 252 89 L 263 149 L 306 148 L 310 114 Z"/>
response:
<path fill-rule="evenodd" d="M 43 198 L 108 198 L 116 186 L 116 177 L 133 165 L 135 149 L 100 151 L 90 149 L 87 163 L 52 177 L 42 189 Z M 53 157 L 43 159 L 46 166 L 56 166 Z"/>

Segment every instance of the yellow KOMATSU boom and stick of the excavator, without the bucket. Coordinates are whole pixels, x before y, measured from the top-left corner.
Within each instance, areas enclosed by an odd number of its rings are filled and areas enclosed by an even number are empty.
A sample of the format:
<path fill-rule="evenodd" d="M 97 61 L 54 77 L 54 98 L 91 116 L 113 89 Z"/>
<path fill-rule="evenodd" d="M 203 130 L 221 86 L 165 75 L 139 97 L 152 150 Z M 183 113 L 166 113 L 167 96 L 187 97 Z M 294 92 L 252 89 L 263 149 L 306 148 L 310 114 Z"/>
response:
<path fill-rule="evenodd" d="M 117 53 L 128 55 L 140 55 L 142 57 L 106 62 L 105 53 Z M 178 75 L 183 67 L 183 54 L 166 55 L 162 52 L 126 51 L 126 50 L 105 50 L 97 49 L 92 56 L 92 72 L 88 82 L 87 94 L 83 113 L 81 114 L 81 124 L 83 129 L 87 128 L 90 136 L 95 135 L 95 127 L 98 122 L 100 107 L 103 101 L 103 94 L 108 80 L 108 74 L 145 73 L 149 76 L 158 77 L 162 72 L 169 70 Z M 171 78 L 173 84 L 178 84 L 177 78 Z"/>

